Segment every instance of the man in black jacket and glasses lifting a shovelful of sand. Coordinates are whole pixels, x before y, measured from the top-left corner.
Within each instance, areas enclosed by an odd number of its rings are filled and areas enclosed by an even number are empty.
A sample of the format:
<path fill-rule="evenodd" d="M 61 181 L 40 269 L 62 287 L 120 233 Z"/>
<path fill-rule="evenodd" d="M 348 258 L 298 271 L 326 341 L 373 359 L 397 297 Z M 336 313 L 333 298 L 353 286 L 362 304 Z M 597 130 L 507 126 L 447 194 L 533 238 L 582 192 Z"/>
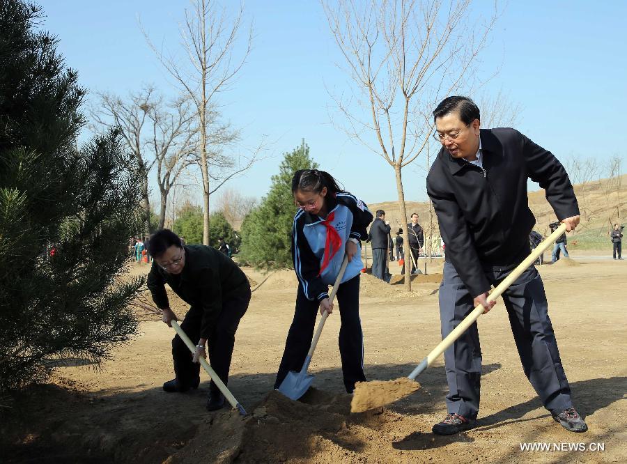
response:
<path fill-rule="evenodd" d="M 474 307 L 490 311 L 490 286 L 500 283 L 529 255 L 535 218 L 527 204 L 527 178 L 545 189 L 566 229 L 579 224 L 568 175 L 549 151 L 513 129 L 480 129 L 479 108 L 449 97 L 433 111 L 442 143 L 427 176 L 427 192 L 447 244 L 440 286 L 440 322 L 446 337 Z M 544 287 L 530 266 L 503 294 L 525 375 L 555 421 L 568 431 L 587 426 L 573 408 L 557 350 Z M 433 433 L 449 435 L 474 426 L 479 412 L 481 347 L 474 323 L 444 352 L 449 394 L 447 417 Z"/>

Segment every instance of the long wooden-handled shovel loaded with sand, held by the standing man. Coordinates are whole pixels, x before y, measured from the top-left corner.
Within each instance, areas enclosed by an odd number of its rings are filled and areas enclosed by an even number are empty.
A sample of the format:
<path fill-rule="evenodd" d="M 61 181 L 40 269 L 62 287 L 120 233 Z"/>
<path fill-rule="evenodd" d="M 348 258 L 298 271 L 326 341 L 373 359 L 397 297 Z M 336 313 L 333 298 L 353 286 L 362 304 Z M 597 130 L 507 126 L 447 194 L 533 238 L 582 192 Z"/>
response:
<path fill-rule="evenodd" d="M 503 279 L 503 281 L 492 291 L 492 293 L 490 293 L 488 301 L 494 301 L 500 297 L 500 295 L 502 295 L 502 293 L 504 293 L 504 291 L 506 291 L 507 288 L 509 288 L 509 286 L 513 284 L 518 277 L 520 277 L 520 274 L 525 272 L 525 270 L 536 261 L 538 256 L 545 252 L 545 250 L 565 232 L 566 224 L 560 225 L 555 232 L 549 235 L 546 240 L 541 242 L 540 245 L 538 245 L 532 253 L 527 256 L 527 258 L 525 258 L 525 261 L 522 261 L 522 263 L 516 266 L 516 269 L 510 272 L 510 274 Z M 444 340 L 438 343 L 438 346 L 433 348 L 431 353 L 422 359 L 420 364 L 416 366 L 416 369 L 414 369 L 412 373 L 407 376 L 407 378 L 390 380 L 389 382 L 357 382 L 357 385 L 355 386 L 355 394 L 353 395 L 353 401 L 351 402 L 351 412 L 362 412 L 378 408 L 379 406 L 401 399 L 403 396 L 411 394 L 419 389 L 420 385 L 418 382 L 415 382 L 419 373 L 422 373 L 428 366 L 431 366 L 433 361 L 444 353 L 444 350 L 449 348 L 449 346 L 451 346 L 460 337 L 460 335 L 467 330 L 468 327 L 477 321 L 479 316 L 483 314 L 483 311 L 485 311 L 485 309 L 482 304 L 479 304 L 479 306 L 473 309 L 472 312 L 468 314 L 468 316 L 466 316 L 465 319 L 462 320 L 461 323 L 455 327 L 446 338 L 444 338 Z M 389 393 L 391 391 L 390 385 L 386 385 L 392 383 L 396 384 L 396 390 L 394 391 L 396 396 Z"/>

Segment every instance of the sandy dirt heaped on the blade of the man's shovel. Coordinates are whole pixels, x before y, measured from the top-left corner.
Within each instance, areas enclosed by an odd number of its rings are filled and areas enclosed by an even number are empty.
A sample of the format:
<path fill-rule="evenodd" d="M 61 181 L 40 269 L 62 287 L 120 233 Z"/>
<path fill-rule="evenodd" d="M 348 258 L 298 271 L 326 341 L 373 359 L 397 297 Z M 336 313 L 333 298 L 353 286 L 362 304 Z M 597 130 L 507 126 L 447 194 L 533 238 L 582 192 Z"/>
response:
<path fill-rule="evenodd" d="M 350 401 L 351 412 L 364 412 L 380 408 L 388 403 L 394 403 L 408 394 L 416 392 L 420 384 L 407 377 L 396 380 L 373 380 L 371 382 L 357 382 L 353 401 Z"/>

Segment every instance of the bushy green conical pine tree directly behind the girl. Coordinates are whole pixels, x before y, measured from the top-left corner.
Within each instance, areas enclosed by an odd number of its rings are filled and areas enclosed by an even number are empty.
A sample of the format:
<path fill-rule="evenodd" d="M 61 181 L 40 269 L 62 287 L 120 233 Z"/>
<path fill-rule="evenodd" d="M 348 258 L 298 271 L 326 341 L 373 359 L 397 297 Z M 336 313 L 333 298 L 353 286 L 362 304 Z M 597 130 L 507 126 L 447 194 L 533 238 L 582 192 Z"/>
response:
<path fill-rule="evenodd" d="M 279 173 L 272 176 L 270 192 L 242 222 L 242 261 L 262 269 L 291 268 L 291 233 L 296 212 L 292 176 L 298 169 L 316 169 L 309 146 L 284 153 Z"/>

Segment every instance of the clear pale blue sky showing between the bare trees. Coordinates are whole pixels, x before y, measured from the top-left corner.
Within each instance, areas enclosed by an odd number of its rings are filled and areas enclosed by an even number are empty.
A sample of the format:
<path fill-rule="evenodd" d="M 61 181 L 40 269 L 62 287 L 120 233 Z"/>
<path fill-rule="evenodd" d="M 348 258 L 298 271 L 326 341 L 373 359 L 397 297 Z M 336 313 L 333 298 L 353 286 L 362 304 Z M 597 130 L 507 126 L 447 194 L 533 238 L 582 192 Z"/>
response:
<path fill-rule="evenodd" d="M 229 10 L 238 6 L 222 4 Z M 476 4 L 475 15 L 488 14 L 492 6 L 490 1 Z M 186 0 L 48 0 L 40 5 L 47 15 L 44 28 L 59 37 L 59 50 L 89 91 L 125 95 L 152 83 L 164 93 L 174 92 L 138 20 L 155 42 L 176 50 Z M 621 155 L 627 162 L 622 138 L 607 137 L 625 132 L 627 2 L 510 1 L 502 8 L 481 55 L 486 72 L 500 67 L 486 91 L 502 90 L 518 103 L 517 128 L 558 158 L 605 162 Z M 245 19 L 254 24 L 253 49 L 220 103 L 246 145 L 256 145 L 263 135 L 273 143 L 265 160 L 229 185 L 247 196 L 263 196 L 281 154 L 304 137 L 320 167 L 366 203 L 397 199 L 387 162 L 331 124 L 327 88 L 344 88 L 348 77 L 336 66 L 341 57 L 319 3 L 249 0 Z M 405 169 L 405 198 L 424 200 L 424 173 L 419 167 Z"/>

